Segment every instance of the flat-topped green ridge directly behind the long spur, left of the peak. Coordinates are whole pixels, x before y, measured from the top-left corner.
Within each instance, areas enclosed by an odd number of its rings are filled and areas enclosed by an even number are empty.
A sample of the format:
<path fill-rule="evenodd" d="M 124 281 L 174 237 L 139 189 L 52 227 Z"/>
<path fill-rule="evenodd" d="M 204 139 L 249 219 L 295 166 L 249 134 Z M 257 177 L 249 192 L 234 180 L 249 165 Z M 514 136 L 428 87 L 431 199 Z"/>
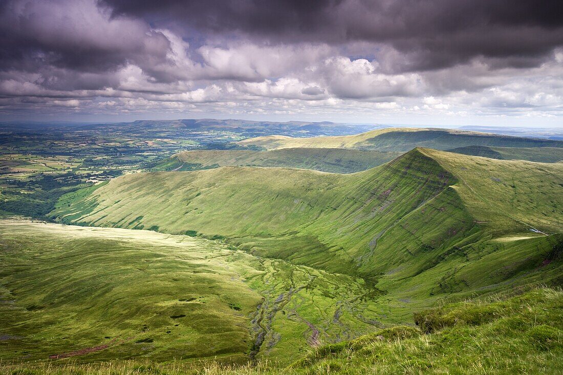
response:
<path fill-rule="evenodd" d="M 296 148 L 272 151 L 193 150 L 162 160 L 154 171 L 194 171 L 225 166 L 285 167 L 321 172 L 354 173 L 377 167 L 401 155 L 348 149 Z"/>

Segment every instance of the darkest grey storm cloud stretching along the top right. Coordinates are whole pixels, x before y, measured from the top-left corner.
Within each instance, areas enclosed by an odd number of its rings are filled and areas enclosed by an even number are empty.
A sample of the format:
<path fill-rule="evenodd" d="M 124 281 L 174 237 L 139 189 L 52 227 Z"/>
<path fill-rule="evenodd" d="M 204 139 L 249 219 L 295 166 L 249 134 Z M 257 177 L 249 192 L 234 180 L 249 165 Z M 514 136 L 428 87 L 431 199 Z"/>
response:
<path fill-rule="evenodd" d="M 496 59 L 497 67 L 528 67 L 563 44 L 561 1 L 102 1 L 114 16 L 166 20 L 205 33 L 274 43 L 387 43 L 406 57 L 391 64 L 395 70 L 444 68 L 476 56 Z"/>

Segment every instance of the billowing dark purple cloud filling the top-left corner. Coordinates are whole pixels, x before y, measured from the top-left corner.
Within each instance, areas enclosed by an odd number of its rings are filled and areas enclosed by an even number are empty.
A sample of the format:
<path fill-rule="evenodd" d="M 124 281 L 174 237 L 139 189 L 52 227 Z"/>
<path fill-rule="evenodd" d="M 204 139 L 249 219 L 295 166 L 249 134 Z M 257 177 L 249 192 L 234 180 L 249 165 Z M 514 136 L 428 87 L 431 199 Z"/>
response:
<path fill-rule="evenodd" d="M 169 48 L 168 39 L 145 23 L 111 21 L 94 3 L 80 0 L 5 1 L 0 35 L 3 70 L 104 73 L 128 61 L 150 68 L 166 60 Z"/>

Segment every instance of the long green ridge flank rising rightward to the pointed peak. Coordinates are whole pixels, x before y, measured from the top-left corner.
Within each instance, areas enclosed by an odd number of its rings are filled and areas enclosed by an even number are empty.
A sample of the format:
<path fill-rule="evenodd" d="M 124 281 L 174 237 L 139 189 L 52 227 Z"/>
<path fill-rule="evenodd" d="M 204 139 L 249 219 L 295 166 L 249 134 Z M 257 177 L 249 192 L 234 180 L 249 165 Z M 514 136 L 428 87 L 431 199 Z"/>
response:
<path fill-rule="evenodd" d="M 145 173 L 112 180 L 86 199 L 70 203 L 62 199 L 57 216 L 88 225 L 131 229 L 157 225 L 176 234 L 192 230 L 210 237 L 222 235 L 250 241 L 253 251 L 263 256 L 272 256 L 270 252 L 282 247 L 292 260 L 305 256 L 303 264 L 319 266 L 319 260 L 303 247 L 306 242 L 318 249 L 323 262 L 327 261 L 324 251 L 338 258 L 330 270 L 349 273 L 363 255 L 362 245 L 377 235 L 374 230 L 395 224 L 439 194 L 452 178 L 417 150 L 351 175 L 252 167 Z M 401 203 L 390 207 L 395 201 Z M 155 205 L 166 211 L 155 210 Z M 87 207 L 92 211 L 87 212 Z M 365 240 L 359 240 L 358 234 L 366 228 Z M 343 230 L 345 234 L 339 234 Z M 261 239 L 268 244 L 259 245 Z M 336 241 L 346 239 L 349 245 L 336 246 Z M 301 252 L 292 249 L 293 241 Z"/>

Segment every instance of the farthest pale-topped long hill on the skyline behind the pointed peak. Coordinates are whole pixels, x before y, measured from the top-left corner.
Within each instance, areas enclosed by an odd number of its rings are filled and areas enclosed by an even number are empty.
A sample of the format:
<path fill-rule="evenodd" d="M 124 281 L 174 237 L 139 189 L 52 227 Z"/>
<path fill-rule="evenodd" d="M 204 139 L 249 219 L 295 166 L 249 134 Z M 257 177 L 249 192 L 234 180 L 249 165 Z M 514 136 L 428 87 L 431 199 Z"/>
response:
<path fill-rule="evenodd" d="M 239 141 L 237 144 L 265 150 L 287 148 L 342 148 L 403 152 L 409 151 L 415 147 L 437 150 L 449 150 L 464 146 L 563 148 L 563 141 L 432 128 L 386 128 L 358 135 L 337 137 L 292 138 L 287 136 L 266 136 Z"/>

